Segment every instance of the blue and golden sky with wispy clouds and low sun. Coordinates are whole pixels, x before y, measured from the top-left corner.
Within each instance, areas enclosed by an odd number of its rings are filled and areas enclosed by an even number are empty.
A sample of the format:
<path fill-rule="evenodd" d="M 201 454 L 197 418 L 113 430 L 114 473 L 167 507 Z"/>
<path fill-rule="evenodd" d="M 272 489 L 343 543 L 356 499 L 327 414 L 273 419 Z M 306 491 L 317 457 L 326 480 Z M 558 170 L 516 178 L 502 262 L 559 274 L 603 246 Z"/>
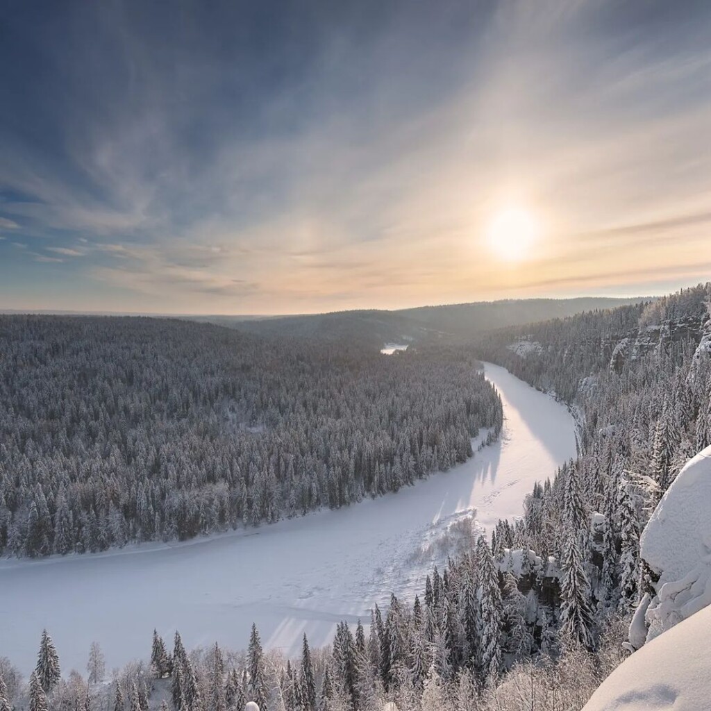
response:
<path fill-rule="evenodd" d="M 705 282 L 710 37 L 706 0 L 4 0 L 0 309 Z"/>

